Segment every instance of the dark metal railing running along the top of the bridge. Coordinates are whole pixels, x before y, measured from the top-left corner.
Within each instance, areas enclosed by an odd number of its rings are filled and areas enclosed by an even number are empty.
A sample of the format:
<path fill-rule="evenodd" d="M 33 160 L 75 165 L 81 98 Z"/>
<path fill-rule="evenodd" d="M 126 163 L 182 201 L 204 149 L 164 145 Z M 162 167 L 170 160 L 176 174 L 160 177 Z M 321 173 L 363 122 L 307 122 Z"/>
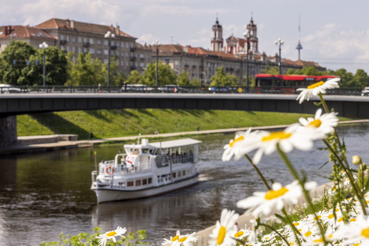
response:
<path fill-rule="evenodd" d="M 4 93 L 254 93 L 254 94 L 299 94 L 300 87 L 280 86 L 15 86 L 0 87 Z M 330 95 L 360 96 L 361 88 L 340 87 L 327 91 Z"/>

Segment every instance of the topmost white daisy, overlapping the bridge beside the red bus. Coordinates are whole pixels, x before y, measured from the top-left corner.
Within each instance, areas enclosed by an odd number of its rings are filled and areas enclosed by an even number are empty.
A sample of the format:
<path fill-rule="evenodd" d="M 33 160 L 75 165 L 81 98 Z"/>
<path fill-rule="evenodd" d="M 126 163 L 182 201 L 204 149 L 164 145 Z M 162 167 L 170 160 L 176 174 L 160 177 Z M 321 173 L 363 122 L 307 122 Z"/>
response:
<path fill-rule="evenodd" d="M 320 81 L 315 84 L 311 84 L 307 88 L 299 88 L 297 91 L 301 91 L 299 96 L 297 96 L 296 100 L 299 100 L 299 103 L 302 103 L 305 99 L 308 101 L 310 97 L 317 96 L 319 93 L 325 94 L 327 89 L 339 88 L 338 82 L 341 80 L 340 78 L 334 78 L 327 80 L 326 82 Z"/>

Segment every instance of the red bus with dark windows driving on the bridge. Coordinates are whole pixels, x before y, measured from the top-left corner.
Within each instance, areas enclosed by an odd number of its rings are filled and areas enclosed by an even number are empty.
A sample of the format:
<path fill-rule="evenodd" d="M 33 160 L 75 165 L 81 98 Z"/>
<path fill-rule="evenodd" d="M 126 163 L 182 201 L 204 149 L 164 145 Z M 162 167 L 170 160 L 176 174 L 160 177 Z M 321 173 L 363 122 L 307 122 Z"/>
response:
<path fill-rule="evenodd" d="M 309 76 L 309 75 L 270 75 L 261 73 L 255 75 L 255 89 L 257 93 L 262 90 L 271 90 L 275 93 L 293 94 L 297 88 L 306 88 L 311 84 L 328 79 L 337 78 L 333 75 Z"/>

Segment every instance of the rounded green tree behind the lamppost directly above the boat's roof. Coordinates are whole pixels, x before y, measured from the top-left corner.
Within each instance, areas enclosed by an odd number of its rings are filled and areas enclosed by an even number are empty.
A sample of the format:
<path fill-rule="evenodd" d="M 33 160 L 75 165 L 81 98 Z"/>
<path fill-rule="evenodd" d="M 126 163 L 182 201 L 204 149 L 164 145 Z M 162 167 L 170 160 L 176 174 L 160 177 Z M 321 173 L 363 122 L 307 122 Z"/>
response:
<path fill-rule="evenodd" d="M 158 61 L 158 84 L 175 84 L 177 76 L 173 69 L 168 64 L 164 64 L 161 60 Z M 146 67 L 146 70 L 142 74 L 142 84 L 148 86 L 156 85 L 156 63 L 150 62 Z"/>

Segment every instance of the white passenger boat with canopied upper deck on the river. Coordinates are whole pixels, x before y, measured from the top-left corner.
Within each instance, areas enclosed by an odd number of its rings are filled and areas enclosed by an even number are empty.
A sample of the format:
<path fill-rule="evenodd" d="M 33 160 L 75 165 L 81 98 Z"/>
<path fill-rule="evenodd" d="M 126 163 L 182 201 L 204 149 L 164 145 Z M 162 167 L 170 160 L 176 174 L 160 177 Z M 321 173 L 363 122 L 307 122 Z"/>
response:
<path fill-rule="evenodd" d="M 92 171 L 97 202 L 152 197 L 196 184 L 199 143 L 191 138 L 149 143 L 144 138 L 141 144 L 125 144 L 125 153 Z"/>

